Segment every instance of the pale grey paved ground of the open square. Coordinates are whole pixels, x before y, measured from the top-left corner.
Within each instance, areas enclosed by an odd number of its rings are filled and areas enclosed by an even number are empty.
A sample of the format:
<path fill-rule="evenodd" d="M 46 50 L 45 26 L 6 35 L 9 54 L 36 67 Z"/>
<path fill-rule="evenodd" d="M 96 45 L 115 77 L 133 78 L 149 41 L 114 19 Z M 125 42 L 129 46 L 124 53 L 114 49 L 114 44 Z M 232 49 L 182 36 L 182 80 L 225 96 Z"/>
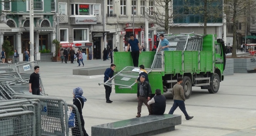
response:
<path fill-rule="evenodd" d="M 87 98 L 83 108 L 85 129 L 91 136 L 91 126 L 136 118 L 136 94 L 116 94 L 114 87 L 110 99 L 106 103 L 103 77 L 83 78 L 72 76 L 73 69 L 110 66 L 110 60 L 86 60 L 84 67 L 77 63 L 38 62 L 45 93 L 49 96 L 63 98 L 72 103 L 72 89 L 80 86 Z M 11 65 L 14 68 L 14 64 Z M 118 66 L 117 66 L 118 67 Z M 104 73 L 99 73 L 103 75 Z M 184 114 L 177 108 L 174 114 L 182 115 L 182 124 L 170 131 L 157 136 L 222 136 L 246 135 L 255 136 L 256 130 L 256 73 L 225 76 L 218 93 L 209 94 L 199 87 L 192 88 L 192 95 L 185 101 L 187 112 L 193 119 L 187 121 Z M 172 107 L 171 93 L 163 94 L 167 98 L 165 114 Z M 142 106 L 141 116 L 148 115 L 147 107 Z M 246 133 L 245 133 L 246 132 Z M 103 134 L 104 135 L 104 134 Z"/>

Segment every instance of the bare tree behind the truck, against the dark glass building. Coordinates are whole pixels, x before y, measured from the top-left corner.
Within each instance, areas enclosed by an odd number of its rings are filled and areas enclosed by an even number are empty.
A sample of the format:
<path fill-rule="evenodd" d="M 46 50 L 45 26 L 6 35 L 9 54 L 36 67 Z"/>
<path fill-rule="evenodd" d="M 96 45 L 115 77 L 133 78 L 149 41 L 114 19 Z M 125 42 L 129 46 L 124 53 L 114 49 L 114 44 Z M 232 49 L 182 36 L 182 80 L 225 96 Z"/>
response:
<path fill-rule="evenodd" d="M 198 15 L 206 35 L 207 23 L 222 23 L 222 0 L 185 0 L 184 13 Z M 200 21 L 195 23 L 202 23 Z"/>

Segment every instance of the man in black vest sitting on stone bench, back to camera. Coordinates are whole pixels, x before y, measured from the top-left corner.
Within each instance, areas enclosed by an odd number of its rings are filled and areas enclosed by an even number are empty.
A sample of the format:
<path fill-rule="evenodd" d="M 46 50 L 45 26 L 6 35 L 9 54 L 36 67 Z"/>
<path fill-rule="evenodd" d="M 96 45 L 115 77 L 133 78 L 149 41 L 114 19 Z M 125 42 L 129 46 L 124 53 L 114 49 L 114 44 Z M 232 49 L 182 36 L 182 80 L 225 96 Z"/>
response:
<path fill-rule="evenodd" d="M 151 114 L 162 115 L 165 113 L 166 98 L 161 95 L 160 89 L 155 90 L 155 96 L 148 101 L 148 105 L 150 105 Z"/>

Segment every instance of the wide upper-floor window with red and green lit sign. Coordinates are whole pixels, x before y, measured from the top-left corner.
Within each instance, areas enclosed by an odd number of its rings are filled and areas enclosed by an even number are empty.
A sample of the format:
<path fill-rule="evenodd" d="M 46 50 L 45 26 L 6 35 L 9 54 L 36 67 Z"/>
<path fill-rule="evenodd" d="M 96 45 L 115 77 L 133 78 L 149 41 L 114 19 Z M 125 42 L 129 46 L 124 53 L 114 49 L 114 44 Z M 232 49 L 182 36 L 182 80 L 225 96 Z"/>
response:
<path fill-rule="evenodd" d="M 99 15 L 99 5 L 71 4 L 71 15 Z"/>

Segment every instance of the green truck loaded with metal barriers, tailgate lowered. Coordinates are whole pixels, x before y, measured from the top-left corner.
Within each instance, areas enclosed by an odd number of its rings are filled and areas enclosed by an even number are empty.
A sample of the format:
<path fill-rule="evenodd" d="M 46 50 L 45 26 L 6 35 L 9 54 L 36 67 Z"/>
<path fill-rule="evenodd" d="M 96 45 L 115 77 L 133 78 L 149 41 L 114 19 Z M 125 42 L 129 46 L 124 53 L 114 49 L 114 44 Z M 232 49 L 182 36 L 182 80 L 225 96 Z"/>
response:
<path fill-rule="evenodd" d="M 200 86 L 209 93 L 217 93 L 220 82 L 224 80 L 224 41 L 217 39 L 215 34 L 167 34 L 165 38 L 170 44 L 169 51 L 144 51 L 139 57 L 139 65 L 149 69 L 148 78 L 152 93 L 156 89 L 160 89 L 162 93 L 172 91 L 178 77 L 183 78 L 182 86 L 186 99 L 192 93 L 192 86 Z M 158 49 L 160 47 L 159 43 Z M 116 75 L 109 85 L 115 85 L 115 93 L 136 93 L 135 79 L 139 73 L 132 72 L 138 68 L 132 67 L 131 53 L 114 52 L 113 56 Z M 129 66 L 133 70 L 129 69 Z"/>

